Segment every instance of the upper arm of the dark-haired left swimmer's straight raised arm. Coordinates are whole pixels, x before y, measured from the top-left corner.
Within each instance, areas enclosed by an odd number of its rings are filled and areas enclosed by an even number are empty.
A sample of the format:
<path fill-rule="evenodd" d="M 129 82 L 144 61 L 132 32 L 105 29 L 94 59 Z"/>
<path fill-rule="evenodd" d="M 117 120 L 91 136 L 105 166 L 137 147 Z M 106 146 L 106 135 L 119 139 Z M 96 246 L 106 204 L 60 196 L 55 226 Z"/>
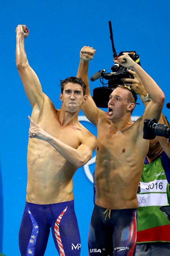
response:
<path fill-rule="evenodd" d="M 18 72 L 31 106 L 34 107 L 37 104 L 40 108 L 43 103 L 43 93 L 37 74 L 29 65 L 18 69 Z"/>

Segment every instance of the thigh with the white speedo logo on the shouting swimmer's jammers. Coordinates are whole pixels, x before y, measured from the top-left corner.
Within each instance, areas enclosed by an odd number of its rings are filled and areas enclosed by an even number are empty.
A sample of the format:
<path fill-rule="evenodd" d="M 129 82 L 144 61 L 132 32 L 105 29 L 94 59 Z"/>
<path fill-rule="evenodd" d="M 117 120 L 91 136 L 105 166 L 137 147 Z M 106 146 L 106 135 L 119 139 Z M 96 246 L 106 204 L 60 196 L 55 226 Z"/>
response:
<path fill-rule="evenodd" d="M 116 215 L 113 231 L 113 255 L 134 256 L 137 232 L 136 210 L 122 209 L 118 210 Z"/>

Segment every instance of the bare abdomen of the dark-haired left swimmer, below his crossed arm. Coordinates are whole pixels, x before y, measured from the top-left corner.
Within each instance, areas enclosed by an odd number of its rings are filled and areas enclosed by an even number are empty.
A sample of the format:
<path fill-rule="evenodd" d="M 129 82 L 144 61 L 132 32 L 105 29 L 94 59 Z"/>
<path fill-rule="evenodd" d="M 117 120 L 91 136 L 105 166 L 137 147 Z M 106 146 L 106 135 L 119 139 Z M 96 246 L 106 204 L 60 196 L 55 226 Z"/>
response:
<path fill-rule="evenodd" d="M 27 202 L 55 204 L 73 200 L 72 177 L 76 167 L 49 143 L 29 141 L 27 163 Z"/>

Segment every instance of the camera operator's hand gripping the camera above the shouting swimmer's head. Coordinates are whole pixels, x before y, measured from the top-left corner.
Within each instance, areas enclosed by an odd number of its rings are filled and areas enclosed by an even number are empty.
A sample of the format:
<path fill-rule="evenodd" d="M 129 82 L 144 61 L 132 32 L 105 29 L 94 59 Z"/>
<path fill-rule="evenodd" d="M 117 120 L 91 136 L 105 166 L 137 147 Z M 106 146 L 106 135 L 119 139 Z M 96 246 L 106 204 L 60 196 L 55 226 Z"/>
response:
<path fill-rule="evenodd" d="M 144 89 L 144 85 L 141 79 L 133 70 L 128 70 L 128 72 L 132 74 L 134 78 L 124 78 L 123 81 L 126 83 L 126 85 L 131 85 L 135 93 L 137 93 L 140 97 L 143 98 L 144 96 L 146 96 L 147 92 Z"/>

